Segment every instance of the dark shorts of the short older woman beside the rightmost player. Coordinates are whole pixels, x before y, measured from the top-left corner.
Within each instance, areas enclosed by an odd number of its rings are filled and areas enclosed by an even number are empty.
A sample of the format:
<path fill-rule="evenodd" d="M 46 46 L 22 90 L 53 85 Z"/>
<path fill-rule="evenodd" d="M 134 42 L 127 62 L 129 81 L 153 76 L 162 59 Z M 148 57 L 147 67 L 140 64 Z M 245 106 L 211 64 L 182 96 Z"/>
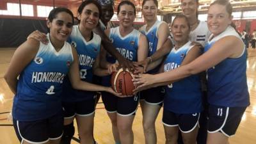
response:
<path fill-rule="evenodd" d="M 178 127 L 181 132 L 188 133 L 198 126 L 200 113 L 173 113 L 163 109 L 163 124 L 167 127 Z"/>

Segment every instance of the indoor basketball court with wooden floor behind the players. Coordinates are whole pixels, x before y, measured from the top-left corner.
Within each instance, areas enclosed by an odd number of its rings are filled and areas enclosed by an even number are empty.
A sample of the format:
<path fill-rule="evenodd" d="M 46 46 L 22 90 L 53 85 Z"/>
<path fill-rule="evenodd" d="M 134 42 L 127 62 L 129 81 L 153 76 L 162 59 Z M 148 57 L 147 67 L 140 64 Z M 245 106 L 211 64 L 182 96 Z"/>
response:
<path fill-rule="evenodd" d="M 115 12 L 118 3 L 115 1 Z M 135 28 L 140 28 L 143 23 L 141 16 L 141 4 L 143 0 L 134 0 L 137 9 Z M 29 33 L 36 29 L 47 32 L 45 28 L 46 17 L 52 8 L 65 6 L 72 10 L 74 16 L 77 15 L 77 6 L 81 0 L 1 0 L 0 1 L 0 144 L 20 143 L 13 129 L 12 111 L 13 93 L 4 81 L 4 74 L 10 64 L 13 52 L 26 40 Z M 242 33 L 245 29 L 248 33 L 253 33 L 256 29 L 256 0 L 231 0 L 234 8 L 233 16 L 237 30 Z M 161 0 L 159 3 L 159 16 L 157 19 L 165 20 L 168 24 L 177 13 L 181 13 L 180 0 Z M 206 12 L 211 0 L 200 0 L 200 10 L 198 19 L 206 20 Z M 116 16 L 112 21 L 116 24 Z M 229 139 L 230 144 L 255 144 L 256 143 L 256 49 L 248 45 L 247 58 L 247 83 L 250 93 L 250 106 L 246 108 L 241 124 L 236 135 Z M 117 82 L 116 82 L 117 83 Z M 162 123 L 163 108 L 161 108 L 156 120 L 157 143 L 164 144 L 165 136 Z M 72 144 L 79 143 L 77 126 L 72 138 Z M 134 143 L 143 144 L 145 138 L 143 134 L 142 113 L 140 106 L 136 111 L 136 116 L 132 125 L 134 132 Z M 115 143 L 111 121 L 107 115 L 102 100 L 99 100 L 95 111 L 94 138 L 99 144 Z"/>

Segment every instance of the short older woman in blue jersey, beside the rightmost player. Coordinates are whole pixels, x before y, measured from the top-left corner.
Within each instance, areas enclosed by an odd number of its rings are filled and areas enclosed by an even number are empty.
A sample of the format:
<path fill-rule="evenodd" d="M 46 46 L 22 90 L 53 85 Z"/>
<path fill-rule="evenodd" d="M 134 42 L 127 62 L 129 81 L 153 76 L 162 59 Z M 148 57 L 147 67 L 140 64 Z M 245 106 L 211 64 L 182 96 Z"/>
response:
<path fill-rule="evenodd" d="M 172 35 L 175 47 L 164 61 L 164 72 L 171 71 L 195 60 L 201 54 L 200 47 L 189 41 L 189 20 L 177 15 L 172 23 Z M 163 124 L 166 144 L 177 143 L 179 130 L 185 144 L 195 144 L 198 132 L 198 120 L 202 111 L 202 93 L 200 77 L 193 75 L 179 79 L 165 86 Z"/>

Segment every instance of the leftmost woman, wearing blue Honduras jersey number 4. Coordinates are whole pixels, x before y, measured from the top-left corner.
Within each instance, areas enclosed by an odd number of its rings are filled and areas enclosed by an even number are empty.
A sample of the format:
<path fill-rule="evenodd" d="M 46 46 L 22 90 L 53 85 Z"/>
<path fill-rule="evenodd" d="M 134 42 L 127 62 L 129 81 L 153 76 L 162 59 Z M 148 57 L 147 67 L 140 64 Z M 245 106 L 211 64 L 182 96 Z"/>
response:
<path fill-rule="evenodd" d="M 21 143 L 60 143 L 63 134 L 60 94 L 68 72 L 72 86 L 78 90 L 96 86 L 97 90 L 115 93 L 111 88 L 79 79 L 77 52 L 65 42 L 73 24 L 70 10 L 55 8 L 47 20 L 49 44 L 31 38 L 13 55 L 4 79 L 15 93 L 13 125 Z"/>

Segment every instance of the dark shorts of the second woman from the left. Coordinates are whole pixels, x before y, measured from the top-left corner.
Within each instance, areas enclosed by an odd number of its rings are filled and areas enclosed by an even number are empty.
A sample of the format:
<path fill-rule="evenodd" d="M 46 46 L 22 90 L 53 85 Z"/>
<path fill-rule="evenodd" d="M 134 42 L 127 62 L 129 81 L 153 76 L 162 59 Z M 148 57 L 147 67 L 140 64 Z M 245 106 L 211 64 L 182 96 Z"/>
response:
<path fill-rule="evenodd" d="M 95 113 L 96 95 L 92 99 L 79 102 L 62 102 L 64 118 L 73 118 L 76 115 L 90 116 Z"/>

